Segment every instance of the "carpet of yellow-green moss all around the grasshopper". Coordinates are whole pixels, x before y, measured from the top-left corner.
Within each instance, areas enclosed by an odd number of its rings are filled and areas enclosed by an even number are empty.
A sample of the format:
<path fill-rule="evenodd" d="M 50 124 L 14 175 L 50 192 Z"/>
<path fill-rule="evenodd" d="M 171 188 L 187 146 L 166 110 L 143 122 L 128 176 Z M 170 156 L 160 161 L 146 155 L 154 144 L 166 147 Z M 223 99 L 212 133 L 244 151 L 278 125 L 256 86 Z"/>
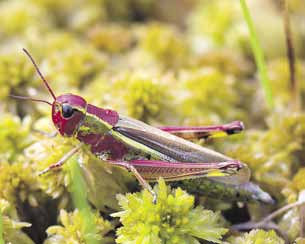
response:
<path fill-rule="evenodd" d="M 5 243 L 304 243 L 304 214 L 298 208 L 275 220 L 277 234 L 228 231 L 302 199 L 305 189 L 305 3 L 287 0 L 296 56 L 293 90 L 283 2 L 246 2 L 265 56 L 273 107 L 260 85 L 237 0 L 1 0 L 0 236 Z M 240 135 L 197 143 L 247 163 L 252 180 L 276 204 L 192 196 L 162 181 L 156 186 L 163 194 L 157 206 L 146 192 L 117 196 L 139 190 L 134 177 L 86 150 L 73 159 L 81 168 L 70 162 L 38 177 L 76 142 L 37 132 L 55 131 L 49 106 L 8 96 L 51 101 L 22 48 L 36 59 L 56 95 L 79 94 L 154 126 L 244 121 Z M 76 181 L 87 189 L 78 196 L 83 211 L 73 203 L 73 167 L 85 179 Z"/>

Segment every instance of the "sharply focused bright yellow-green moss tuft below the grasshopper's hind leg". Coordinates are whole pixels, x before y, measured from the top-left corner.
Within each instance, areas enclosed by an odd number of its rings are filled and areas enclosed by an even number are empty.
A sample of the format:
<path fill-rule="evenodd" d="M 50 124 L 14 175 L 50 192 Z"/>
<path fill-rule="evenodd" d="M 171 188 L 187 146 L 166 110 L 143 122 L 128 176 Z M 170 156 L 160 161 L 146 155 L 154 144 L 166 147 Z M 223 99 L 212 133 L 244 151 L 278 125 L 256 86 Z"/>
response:
<path fill-rule="evenodd" d="M 221 243 L 227 229 L 219 224 L 218 213 L 194 208 L 194 197 L 180 188 L 171 190 L 164 180 L 158 183 L 156 204 L 148 191 L 118 196 L 123 210 L 112 214 L 123 224 L 117 230 L 118 243 Z"/>

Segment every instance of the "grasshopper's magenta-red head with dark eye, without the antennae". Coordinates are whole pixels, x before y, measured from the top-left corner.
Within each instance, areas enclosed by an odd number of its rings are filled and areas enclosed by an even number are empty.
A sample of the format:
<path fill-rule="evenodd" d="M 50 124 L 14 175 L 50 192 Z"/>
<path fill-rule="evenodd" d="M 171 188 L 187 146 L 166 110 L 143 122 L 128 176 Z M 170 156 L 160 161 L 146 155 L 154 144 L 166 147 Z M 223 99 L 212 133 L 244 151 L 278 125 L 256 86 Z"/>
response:
<path fill-rule="evenodd" d="M 52 120 L 63 136 L 73 136 L 86 116 L 87 102 L 80 96 L 64 94 L 52 104 Z"/>

